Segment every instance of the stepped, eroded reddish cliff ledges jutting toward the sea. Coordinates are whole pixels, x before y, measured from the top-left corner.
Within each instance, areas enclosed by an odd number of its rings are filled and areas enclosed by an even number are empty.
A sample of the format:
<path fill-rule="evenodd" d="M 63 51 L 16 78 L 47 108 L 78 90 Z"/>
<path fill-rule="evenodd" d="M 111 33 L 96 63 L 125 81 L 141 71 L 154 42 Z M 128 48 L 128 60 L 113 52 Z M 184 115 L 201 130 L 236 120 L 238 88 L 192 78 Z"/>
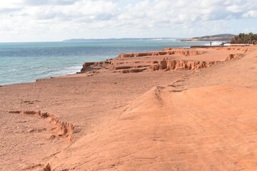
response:
<path fill-rule="evenodd" d="M 208 49 L 208 48 L 206 48 Z M 175 70 L 198 70 L 220 63 L 231 61 L 243 56 L 247 48 L 211 48 L 216 51 L 232 51 L 236 53 L 224 53 L 218 61 L 204 61 L 206 51 L 196 51 L 190 48 L 164 48 L 163 51 L 145 53 L 121 53 L 117 58 L 101 62 L 84 63 L 81 72 L 93 73 L 107 69 L 112 72 L 139 73 L 143 71 L 175 71 Z M 238 53 L 241 52 L 241 53 Z M 192 59 L 193 58 L 193 59 Z M 199 59 L 198 59 L 199 58 Z"/>

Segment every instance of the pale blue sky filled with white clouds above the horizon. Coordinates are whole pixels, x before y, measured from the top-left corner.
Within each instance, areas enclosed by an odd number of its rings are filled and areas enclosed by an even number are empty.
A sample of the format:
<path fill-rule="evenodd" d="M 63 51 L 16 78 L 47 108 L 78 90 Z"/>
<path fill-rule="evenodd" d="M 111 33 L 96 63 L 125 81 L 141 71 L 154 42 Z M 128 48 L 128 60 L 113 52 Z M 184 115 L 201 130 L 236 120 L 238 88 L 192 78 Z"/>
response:
<path fill-rule="evenodd" d="M 0 42 L 257 33 L 257 0 L 6 0 Z"/>

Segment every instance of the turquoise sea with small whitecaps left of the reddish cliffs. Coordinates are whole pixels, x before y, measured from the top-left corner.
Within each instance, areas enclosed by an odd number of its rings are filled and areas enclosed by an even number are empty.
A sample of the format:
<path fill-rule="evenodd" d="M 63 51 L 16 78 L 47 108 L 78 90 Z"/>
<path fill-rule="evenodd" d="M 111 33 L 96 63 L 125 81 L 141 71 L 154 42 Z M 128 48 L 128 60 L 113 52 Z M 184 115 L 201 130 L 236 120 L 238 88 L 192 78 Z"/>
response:
<path fill-rule="evenodd" d="M 79 72 L 84 62 L 103 61 L 119 53 L 158 51 L 165 47 L 206 45 L 176 41 L 85 41 L 0 43 L 0 85 L 34 82 Z"/>

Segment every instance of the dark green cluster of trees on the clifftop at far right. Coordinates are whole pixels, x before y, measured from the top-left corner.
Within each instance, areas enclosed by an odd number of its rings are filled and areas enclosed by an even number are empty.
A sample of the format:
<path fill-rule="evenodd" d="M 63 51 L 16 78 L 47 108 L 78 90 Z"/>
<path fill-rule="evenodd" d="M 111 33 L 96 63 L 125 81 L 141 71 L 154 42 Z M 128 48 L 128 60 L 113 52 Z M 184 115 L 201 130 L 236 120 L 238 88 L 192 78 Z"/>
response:
<path fill-rule="evenodd" d="M 231 38 L 231 44 L 233 43 L 251 43 L 257 44 L 257 34 L 254 33 L 239 33 L 237 36 Z"/>

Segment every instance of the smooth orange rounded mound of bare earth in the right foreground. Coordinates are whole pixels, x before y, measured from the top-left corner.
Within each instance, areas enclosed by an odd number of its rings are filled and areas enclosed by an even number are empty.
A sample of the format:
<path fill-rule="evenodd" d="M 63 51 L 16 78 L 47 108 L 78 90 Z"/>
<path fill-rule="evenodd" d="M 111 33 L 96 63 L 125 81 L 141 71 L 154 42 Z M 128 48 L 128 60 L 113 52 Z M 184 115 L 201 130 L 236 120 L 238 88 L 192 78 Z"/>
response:
<path fill-rule="evenodd" d="M 256 169 L 256 95 L 238 86 L 153 88 L 51 164 L 56 170 Z"/>

